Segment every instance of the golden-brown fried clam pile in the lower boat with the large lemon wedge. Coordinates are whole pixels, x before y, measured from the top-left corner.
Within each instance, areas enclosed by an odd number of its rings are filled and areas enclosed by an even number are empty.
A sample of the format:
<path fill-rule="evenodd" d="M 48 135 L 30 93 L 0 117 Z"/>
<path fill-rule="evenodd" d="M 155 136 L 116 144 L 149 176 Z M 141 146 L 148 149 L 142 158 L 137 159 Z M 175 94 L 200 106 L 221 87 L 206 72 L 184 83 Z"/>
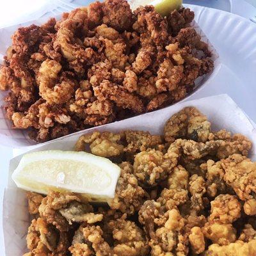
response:
<path fill-rule="evenodd" d="M 29 253 L 73 256 L 255 256 L 256 163 L 242 134 L 211 131 L 184 108 L 164 135 L 93 132 L 86 146 L 121 168 L 109 205 L 81 195 L 28 193 Z"/>

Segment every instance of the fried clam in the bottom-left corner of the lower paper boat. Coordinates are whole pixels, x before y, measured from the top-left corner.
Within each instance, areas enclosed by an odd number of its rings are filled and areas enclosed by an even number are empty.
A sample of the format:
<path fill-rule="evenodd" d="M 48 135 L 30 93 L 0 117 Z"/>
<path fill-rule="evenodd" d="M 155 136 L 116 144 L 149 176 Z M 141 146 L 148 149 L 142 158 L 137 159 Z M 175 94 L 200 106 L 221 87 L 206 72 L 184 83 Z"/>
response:
<path fill-rule="evenodd" d="M 67 232 L 62 232 L 53 225 L 47 224 L 42 218 L 32 220 L 26 240 L 28 249 L 31 251 L 24 254 L 26 256 L 65 256 L 68 252 Z"/>

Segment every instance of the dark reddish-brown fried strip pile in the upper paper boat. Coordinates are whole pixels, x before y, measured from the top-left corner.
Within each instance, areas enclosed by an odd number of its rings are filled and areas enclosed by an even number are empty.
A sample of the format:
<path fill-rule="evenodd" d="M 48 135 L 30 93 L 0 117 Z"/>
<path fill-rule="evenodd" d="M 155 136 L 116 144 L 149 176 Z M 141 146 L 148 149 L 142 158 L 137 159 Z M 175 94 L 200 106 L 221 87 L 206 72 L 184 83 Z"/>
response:
<path fill-rule="evenodd" d="M 193 18 L 106 0 L 19 28 L 0 70 L 7 118 L 41 142 L 183 99 L 213 68 Z"/>

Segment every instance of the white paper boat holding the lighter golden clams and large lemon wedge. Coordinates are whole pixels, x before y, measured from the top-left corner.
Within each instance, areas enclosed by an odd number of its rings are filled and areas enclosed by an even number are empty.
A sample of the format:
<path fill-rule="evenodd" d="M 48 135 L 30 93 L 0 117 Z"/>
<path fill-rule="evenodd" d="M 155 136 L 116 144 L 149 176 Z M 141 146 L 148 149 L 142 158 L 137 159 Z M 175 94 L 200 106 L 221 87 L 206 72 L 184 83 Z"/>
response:
<path fill-rule="evenodd" d="M 51 141 L 29 152 L 38 150 L 61 149 L 72 150 L 74 144 L 81 134 L 93 131 L 118 132 L 124 129 L 149 131 L 151 134 L 163 134 L 163 127 L 174 113 L 186 106 L 195 106 L 202 113 L 208 116 L 212 124 L 212 131 L 227 129 L 233 133 L 240 132 L 256 144 L 256 130 L 250 120 L 246 117 L 236 103 L 228 95 L 218 95 L 199 100 L 180 102 L 171 108 L 161 111 L 147 113 L 143 116 L 135 116 L 116 124 L 107 124 L 101 127 L 94 127 L 87 131 L 77 132 L 65 138 Z M 251 157 L 256 155 L 255 147 L 252 148 Z M 29 226 L 29 214 L 27 208 L 26 192 L 17 188 L 11 179 L 13 170 L 17 167 L 22 155 L 10 161 L 8 186 L 4 191 L 3 204 L 3 231 L 6 256 L 20 256 L 27 252 L 26 234 Z"/>

